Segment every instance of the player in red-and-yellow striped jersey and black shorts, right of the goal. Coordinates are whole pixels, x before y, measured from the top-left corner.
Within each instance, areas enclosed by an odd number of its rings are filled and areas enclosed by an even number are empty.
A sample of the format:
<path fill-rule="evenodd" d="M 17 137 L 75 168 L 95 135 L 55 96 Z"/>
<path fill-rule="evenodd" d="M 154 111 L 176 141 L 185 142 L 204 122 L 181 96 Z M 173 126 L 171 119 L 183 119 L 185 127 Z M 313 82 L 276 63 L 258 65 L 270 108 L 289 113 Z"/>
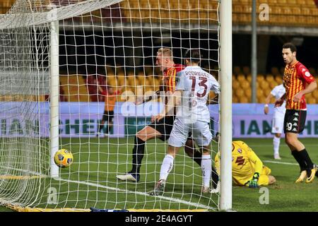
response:
<path fill-rule="evenodd" d="M 296 52 L 294 44 L 286 43 L 283 45 L 282 54 L 286 64 L 283 84 L 286 93 L 276 101 L 275 105 L 281 106 L 283 100 L 286 100 L 285 143 L 300 165 L 300 177 L 296 183 L 302 182 L 306 176 L 306 183 L 310 183 L 317 173 L 317 166 L 310 159 L 305 145 L 298 140 L 298 133 L 305 129 L 307 115 L 305 95 L 312 93 L 317 88 L 317 83 L 308 69 L 296 59 Z"/>

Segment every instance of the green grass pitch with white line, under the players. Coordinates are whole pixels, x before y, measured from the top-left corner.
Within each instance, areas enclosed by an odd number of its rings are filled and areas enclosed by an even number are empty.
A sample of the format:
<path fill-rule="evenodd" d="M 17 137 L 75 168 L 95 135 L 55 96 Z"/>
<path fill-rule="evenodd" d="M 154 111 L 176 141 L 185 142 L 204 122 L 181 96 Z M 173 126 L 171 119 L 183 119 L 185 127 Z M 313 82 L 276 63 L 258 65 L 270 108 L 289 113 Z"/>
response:
<path fill-rule="evenodd" d="M 316 139 L 301 139 L 314 162 L 318 163 Z M 232 208 L 237 211 L 317 211 L 318 178 L 312 184 L 295 184 L 299 167 L 281 139 L 282 160 L 273 160 L 272 139 L 242 139 L 271 168 L 277 182 L 268 186 L 268 202 L 264 191 L 233 186 Z M 175 160 L 163 197 L 146 195 L 158 180 L 166 145 L 160 140 L 148 141 L 141 168 L 141 182 L 121 182 L 118 172 L 131 168 L 130 138 L 63 138 L 62 148 L 71 149 L 74 162 L 61 169 L 61 180 L 45 179 L 38 207 L 47 208 L 136 208 L 136 209 L 196 209 L 216 208 L 218 196 L 201 194 L 201 169 L 180 150 Z M 81 143 L 81 145 L 80 145 Z M 216 145 L 213 145 L 215 148 Z M 213 157 L 215 154 L 213 154 Z M 58 203 L 47 204 L 47 189 L 59 191 Z M 0 207 L 0 211 L 10 211 Z"/>

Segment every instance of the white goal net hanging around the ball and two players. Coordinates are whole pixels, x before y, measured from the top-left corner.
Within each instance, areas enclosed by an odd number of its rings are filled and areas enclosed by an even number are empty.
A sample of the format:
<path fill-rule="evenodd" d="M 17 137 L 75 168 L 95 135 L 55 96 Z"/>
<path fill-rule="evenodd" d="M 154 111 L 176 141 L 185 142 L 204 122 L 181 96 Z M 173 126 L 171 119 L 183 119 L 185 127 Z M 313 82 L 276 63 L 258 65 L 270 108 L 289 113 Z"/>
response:
<path fill-rule="evenodd" d="M 0 17 L 0 205 L 218 210 L 219 194 L 201 192 L 196 147 L 190 157 L 179 150 L 162 195 L 148 194 L 170 132 L 143 133 L 144 144 L 136 134 L 165 98 L 135 105 L 165 81 L 160 48 L 172 51 L 173 65 L 200 49 L 201 68 L 218 80 L 218 10 L 214 0 L 17 0 Z M 219 107 L 208 107 L 215 135 Z M 54 165 L 62 148 L 73 153 L 70 167 Z M 134 167 L 138 182 L 117 178 Z"/>

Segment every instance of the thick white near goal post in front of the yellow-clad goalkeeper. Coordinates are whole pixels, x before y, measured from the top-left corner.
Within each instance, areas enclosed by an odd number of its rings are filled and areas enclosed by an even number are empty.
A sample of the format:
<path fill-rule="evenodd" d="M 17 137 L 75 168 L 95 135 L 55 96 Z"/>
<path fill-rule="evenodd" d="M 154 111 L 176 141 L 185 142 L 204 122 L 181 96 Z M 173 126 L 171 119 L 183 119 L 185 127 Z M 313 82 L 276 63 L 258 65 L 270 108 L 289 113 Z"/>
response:
<path fill-rule="evenodd" d="M 220 210 L 232 209 L 232 0 L 220 3 Z M 227 123 L 228 122 L 228 123 Z"/>

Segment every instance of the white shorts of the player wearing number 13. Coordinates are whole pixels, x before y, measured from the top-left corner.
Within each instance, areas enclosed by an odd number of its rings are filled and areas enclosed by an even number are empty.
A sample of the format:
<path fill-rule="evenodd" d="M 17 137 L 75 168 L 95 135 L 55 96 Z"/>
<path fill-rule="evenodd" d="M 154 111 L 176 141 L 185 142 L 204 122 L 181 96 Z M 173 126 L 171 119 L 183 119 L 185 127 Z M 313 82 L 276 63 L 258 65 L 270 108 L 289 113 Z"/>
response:
<path fill-rule="evenodd" d="M 192 133 L 192 138 L 197 145 L 206 146 L 211 143 L 212 134 L 208 122 L 195 121 L 193 124 L 186 124 L 185 120 L 175 119 L 168 141 L 169 145 L 176 148 L 182 147 L 187 141 L 189 132 Z"/>

